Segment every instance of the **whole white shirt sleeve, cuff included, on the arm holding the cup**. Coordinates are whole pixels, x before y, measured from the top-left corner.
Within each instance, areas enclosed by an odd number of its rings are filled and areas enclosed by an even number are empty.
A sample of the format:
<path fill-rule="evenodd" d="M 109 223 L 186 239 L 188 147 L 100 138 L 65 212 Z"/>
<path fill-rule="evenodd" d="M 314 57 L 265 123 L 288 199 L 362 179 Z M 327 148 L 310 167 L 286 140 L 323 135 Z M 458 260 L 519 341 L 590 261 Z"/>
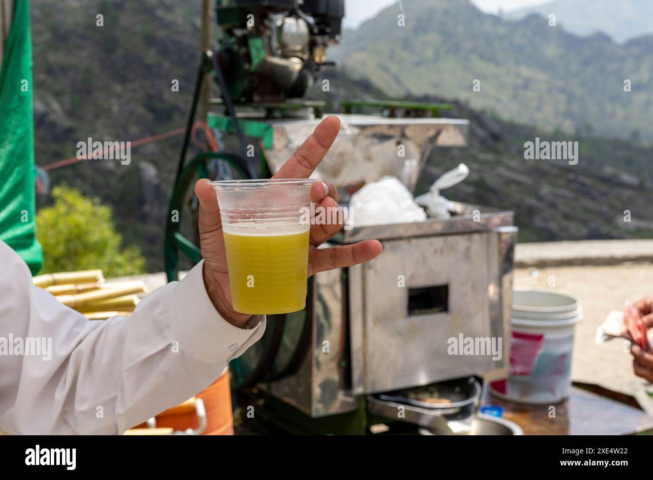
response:
<path fill-rule="evenodd" d="M 203 262 L 129 317 L 89 321 L 33 285 L 0 242 L 0 430 L 121 434 L 208 387 L 263 335 L 215 311 Z"/>

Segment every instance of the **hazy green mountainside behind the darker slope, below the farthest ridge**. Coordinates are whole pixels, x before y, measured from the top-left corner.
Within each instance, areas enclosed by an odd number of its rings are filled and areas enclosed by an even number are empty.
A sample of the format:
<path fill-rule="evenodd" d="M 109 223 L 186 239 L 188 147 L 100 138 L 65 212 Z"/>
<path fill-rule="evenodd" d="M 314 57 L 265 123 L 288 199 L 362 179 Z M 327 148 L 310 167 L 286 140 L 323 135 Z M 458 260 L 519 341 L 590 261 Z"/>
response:
<path fill-rule="evenodd" d="M 508 22 L 469 0 L 405 0 L 346 31 L 333 52 L 348 75 L 390 96 L 464 99 L 505 119 L 573 132 L 653 140 L 653 37 L 579 38 L 530 16 Z M 618 8 L 616 5 L 614 8 Z M 624 91 L 624 80 L 632 91 Z M 480 80 L 481 91 L 473 91 Z"/>

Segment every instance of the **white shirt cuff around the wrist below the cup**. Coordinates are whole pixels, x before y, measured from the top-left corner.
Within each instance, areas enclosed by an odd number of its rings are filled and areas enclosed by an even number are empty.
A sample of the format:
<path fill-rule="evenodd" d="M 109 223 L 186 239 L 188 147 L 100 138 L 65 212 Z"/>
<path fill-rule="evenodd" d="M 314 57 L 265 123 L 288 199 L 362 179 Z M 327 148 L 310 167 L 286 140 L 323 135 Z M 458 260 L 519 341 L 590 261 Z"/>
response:
<path fill-rule="evenodd" d="M 252 317 L 247 329 L 223 319 L 206 293 L 203 268 L 202 260 L 176 285 L 170 298 L 170 323 L 180 352 L 201 362 L 224 362 L 261 327 L 261 316 Z"/>

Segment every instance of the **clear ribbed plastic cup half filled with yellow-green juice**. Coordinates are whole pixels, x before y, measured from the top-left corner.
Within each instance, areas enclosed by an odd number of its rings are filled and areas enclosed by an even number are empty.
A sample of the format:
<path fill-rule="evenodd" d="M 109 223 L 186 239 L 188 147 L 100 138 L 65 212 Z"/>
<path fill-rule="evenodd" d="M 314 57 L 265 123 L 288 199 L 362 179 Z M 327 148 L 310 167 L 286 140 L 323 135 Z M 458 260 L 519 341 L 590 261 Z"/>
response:
<path fill-rule="evenodd" d="M 311 185 L 319 180 L 222 180 L 217 194 L 234 310 L 290 313 L 306 306 Z"/>

